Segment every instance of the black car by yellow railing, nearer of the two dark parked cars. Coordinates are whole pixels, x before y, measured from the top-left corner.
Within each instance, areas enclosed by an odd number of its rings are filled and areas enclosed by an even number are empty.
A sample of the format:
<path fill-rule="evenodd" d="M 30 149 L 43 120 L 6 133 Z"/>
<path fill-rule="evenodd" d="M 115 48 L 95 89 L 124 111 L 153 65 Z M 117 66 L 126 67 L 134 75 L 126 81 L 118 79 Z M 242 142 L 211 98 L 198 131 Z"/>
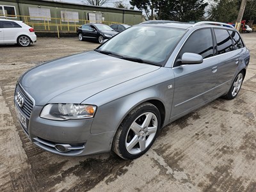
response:
<path fill-rule="evenodd" d="M 112 28 L 104 24 L 84 24 L 77 28 L 77 36 L 79 40 L 95 40 L 100 44 L 105 39 L 109 39 L 117 34 Z"/>

